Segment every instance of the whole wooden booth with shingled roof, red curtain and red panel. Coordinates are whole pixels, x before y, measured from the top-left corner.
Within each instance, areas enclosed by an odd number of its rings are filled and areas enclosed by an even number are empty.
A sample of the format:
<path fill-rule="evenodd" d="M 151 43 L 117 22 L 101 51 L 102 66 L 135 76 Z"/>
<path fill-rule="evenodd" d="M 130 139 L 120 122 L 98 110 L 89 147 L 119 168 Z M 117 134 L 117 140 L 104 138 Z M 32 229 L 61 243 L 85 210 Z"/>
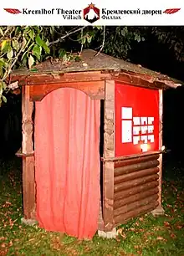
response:
<path fill-rule="evenodd" d="M 175 79 L 94 50 L 11 75 L 23 94 L 23 212 L 92 238 L 161 213 L 162 90 Z M 102 151 L 103 150 L 103 151 Z"/>

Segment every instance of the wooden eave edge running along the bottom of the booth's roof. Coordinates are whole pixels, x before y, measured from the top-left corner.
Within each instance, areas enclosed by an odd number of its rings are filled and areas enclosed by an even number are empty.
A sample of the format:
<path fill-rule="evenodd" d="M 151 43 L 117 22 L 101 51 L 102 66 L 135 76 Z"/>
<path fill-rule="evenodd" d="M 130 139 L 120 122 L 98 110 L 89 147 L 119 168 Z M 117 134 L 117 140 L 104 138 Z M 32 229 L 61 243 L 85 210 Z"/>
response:
<path fill-rule="evenodd" d="M 182 85 L 182 82 L 176 79 L 171 79 L 169 77 L 166 77 L 166 79 L 161 79 L 160 77 L 156 77 L 156 76 L 152 76 L 152 75 L 146 75 L 146 74 L 138 74 L 138 73 L 133 73 L 133 72 L 127 72 L 126 70 L 90 70 L 87 71 L 88 73 L 88 78 L 85 75 L 85 79 L 82 79 L 81 74 L 86 73 L 85 71 L 83 72 L 69 72 L 69 73 L 63 73 L 61 70 L 59 70 L 59 72 L 56 72 L 54 70 L 54 72 L 33 72 L 32 74 L 12 74 L 11 75 L 11 79 L 10 81 L 13 82 L 15 80 L 19 80 L 19 82 L 21 82 L 21 84 L 25 84 L 24 82 L 27 82 L 28 84 L 34 84 L 35 83 L 35 78 L 39 77 L 40 79 L 40 83 L 43 82 L 44 78 L 46 76 L 50 76 L 49 79 L 49 84 L 50 83 L 58 83 L 59 81 L 64 82 L 65 79 L 64 77 L 68 77 L 67 82 L 69 82 L 69 76 L 70 74 L 74 75 L 76 74 L 77 76 L 80 77 L 80 79 L 78 80 L 78 82 L 80 81 L 87 81 L 91 80 L 89 79 L 90 73 L 92 76 L 94 76 L 94 74 L 98 74 L 97 76 L 95 75 L 95 80 L 104 80 L 104 79 L 114 79 L 116 81 L 119 81 L 120 83 L 125 83 L 125 84 L 131 84 L 131 85 L 135 85 L 135 86 L 143 86 L 143 87 L 148 87 L 148 88 L 153 88 L 153 89 L 168 89 L 168 88 L 174 88 L 176 89 L 178 86 Z M 63 77 L 63 78 L 62 78 Z M 23 82 L 23 80 L 25 79 L 25 81 Z M 42 82 L 41 82 L 42 80 Z M 47 80 L 47 79 L 46 79 Z M 52 81 L 51 81 L 52 80 Z M 73 79 L 71 79 L 72 82 Z M 36 83 L 37 84 L 37 83 Z"/>

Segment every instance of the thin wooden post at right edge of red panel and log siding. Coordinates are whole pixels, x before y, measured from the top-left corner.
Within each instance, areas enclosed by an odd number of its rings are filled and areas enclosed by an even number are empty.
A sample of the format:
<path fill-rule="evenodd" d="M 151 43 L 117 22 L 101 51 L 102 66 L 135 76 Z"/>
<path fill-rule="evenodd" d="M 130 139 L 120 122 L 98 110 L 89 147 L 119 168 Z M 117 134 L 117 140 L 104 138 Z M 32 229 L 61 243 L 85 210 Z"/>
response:
<path fill-rule="evenodd" d="M 162 136 L 163 136 L 163 91 L 159 90 L 159 150 L 161 151 L 162 146 Z M 158 192 L 158 202 L 159 206 L 156 207 L 152 214 L 156 215 L 163 215 L 164 209 L 161 206 L 161 181 L 162 181 L 162 154 L 159 156 L 159 192 Z"/>

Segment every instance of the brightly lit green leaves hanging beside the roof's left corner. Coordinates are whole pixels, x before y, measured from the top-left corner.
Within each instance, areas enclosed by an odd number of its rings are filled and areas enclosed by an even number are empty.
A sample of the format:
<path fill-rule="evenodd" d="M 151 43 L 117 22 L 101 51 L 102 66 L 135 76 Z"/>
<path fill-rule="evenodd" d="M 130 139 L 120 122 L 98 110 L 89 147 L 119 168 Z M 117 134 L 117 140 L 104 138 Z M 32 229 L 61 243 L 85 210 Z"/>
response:
<path fill-rule="evenodd" d="M 28 62 L 29 68 L 42 54 L 49 54 L 49 31 L 44 27 L 0 27 L 0 104 L 6 102 L 3 92 L 8 92 L 6 80 L 12 70 Z M 1 97 L 2 96 L 2 97 Z"/>

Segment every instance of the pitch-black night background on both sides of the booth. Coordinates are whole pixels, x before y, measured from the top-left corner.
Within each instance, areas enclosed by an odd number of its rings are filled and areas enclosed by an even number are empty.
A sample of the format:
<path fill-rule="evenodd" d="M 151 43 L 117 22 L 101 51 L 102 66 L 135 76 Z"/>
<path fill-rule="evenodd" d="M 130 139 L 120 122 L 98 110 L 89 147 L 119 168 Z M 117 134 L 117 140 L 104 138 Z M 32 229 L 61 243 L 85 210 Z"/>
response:
<path fill-rule="evenodd" d="M 177 61 L 174 52 L 165 44 L 159 44 L 154 36 L 150 35 L 145 42 L 133 43 L 128 59 L 131 63 L 184 81 L 184 64 Z M 171 150 L 166 154 L 170 159 L 181 162 L 184 162 L 183 96 L 184 87 L 164 91 L 163 145 Z M 20 148 L 21 119 L 21 95 L 9 95 L 8 103 L 0 108 L 1 156 L 13 156 Z"/>

